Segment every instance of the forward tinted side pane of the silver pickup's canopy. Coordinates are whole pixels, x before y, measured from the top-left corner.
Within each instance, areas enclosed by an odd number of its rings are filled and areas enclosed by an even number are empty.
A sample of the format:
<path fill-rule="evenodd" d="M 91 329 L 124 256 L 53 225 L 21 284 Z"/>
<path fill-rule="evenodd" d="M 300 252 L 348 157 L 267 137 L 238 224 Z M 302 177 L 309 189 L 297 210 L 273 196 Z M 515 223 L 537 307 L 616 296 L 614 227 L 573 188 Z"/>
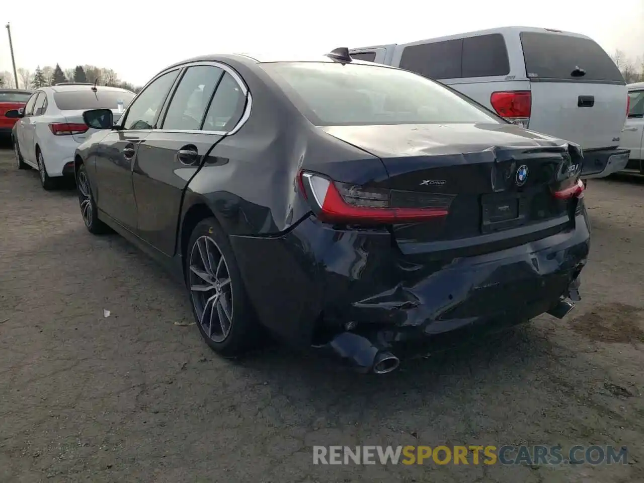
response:
<path fill-rule="evenodd" d="M 462 77 L 463 39 L 410 45 L 403 49 L 400 67 L 431 79 Z"/>

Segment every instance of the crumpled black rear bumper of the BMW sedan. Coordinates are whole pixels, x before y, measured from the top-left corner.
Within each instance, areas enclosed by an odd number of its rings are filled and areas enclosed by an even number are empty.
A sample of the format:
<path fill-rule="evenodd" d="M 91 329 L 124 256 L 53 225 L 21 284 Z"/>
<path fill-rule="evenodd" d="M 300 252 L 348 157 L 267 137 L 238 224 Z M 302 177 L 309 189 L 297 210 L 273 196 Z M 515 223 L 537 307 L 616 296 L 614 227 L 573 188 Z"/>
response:
<path fill-rule="evenodd" d="M 280 339 L 359 372 L 389 372 L 429 342 L 565 316 L 579 299 L 590 232 L 583 209 L 545 238 L 473 256 L 403 255 L 386 229 L 314 218 L 279 238 L 231 242 L 260 321 Z"/>

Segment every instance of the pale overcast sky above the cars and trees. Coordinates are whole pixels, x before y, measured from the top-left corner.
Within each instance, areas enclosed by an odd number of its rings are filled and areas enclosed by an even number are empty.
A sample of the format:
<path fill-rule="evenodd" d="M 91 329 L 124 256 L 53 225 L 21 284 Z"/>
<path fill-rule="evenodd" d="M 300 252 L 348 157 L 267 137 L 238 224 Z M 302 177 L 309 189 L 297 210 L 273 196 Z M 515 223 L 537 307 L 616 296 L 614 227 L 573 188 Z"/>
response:
<path fill-rule="evenodd" d="M 165 66 L 207 53 L 325 53 L 497 26 L 584 33 L 607 52 L 644 56 L 644 1 L 612 0 L 0 0 L 17 68 L 93 64 L 141 85 Z M 11 71 L 6 29 L 0 71 Z"/>

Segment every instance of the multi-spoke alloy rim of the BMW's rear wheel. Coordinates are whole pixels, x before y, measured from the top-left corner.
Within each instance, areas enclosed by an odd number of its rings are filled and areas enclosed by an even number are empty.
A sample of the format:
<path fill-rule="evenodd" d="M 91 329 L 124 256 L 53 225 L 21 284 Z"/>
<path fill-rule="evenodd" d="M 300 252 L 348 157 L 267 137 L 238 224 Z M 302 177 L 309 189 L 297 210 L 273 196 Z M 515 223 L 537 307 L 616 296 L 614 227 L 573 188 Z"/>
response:
<path fill-rule="evenodd" d="M 232 327 L 231 276 L 222 251 L 207 235 L 193 245 L 188 276 L 200 325 L 214 342 L 223 342 Z"/>

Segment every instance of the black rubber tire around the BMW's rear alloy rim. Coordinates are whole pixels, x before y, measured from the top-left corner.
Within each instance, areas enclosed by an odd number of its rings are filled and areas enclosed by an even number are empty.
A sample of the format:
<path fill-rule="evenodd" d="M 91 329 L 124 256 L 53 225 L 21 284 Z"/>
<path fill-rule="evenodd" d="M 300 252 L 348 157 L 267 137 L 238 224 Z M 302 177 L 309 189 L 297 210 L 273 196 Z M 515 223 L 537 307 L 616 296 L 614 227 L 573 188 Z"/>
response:
<path fill-rule="evenodd" d="M 230 307 L 232 306 L 232 312 L 231 316 L 227 317 L 227 320 L 230 322 L 229 332 L 227 332 L 227 334 L 223 334 L 223 325 L 220 325 L 219 327 L 222 328 L 222 334 L 218 334 L 218 337 L 223 337 L 223 340 L 219 341 L 214 340 L 213 336 L 211 336 L 211 334 L 207 332 L 207 328 L 204 327 L 204 324 L 202 324 L 198 310 L 200 310 L 202 308 L 201 306 L 204 304 L 196 301 L 197 298 L 201 296 L 196 294 L 203 293 L 203 298 L 213 298 L 211 294 L 213 294 L 214 292 L 193 292 L 193 290 L 191 290 L 193 284 L 204 282 L 204 279 L 196 276 L 193 270 L 191 270 L 193 254 L 195 257 L 198 257 L 196 259 L 197 263 L 203 261 L 203 258 L 200 256 L 200 252 L 198 252 L 199 247 L 196 246 L 196 243 L 198 241 L 200 243 L 204 243 L 204 237 L 209 238 L 214 243 L 214 245 L 209 245 L 211 249 L 218 249 L 220 254 L 223 256 L 223 260 L 225 262 L 223 264 L 223 267 L 225 267 L 225 270 L 227 270 L 227 275 L 230 279 L 230 287 L 232 289 L 230 300 L 229 298 L 222 295 L 222 298 L 226 301 L 225 305 L 229 307 L 229 311 Z M 210 243 L 207 240 L 206 242 Z M 214 253 L 214 251 L 211 251 L 211 253 Z M 213 258 L 211 258 L 210 256 L 208 256 L 208 258 L 209 260 L 214 260 L 214 255 Z M 213 265 L 213 263 L 211 263 L 211 265 Z M 211 272 L 216 272 L 216 270 L 211 269 Z M 242 355 L 244 352 L 247 352 L 247 350 L 251 348 L 255 348 L 260 341 L 260 334 L 262 333 L 262 331 L 257 323 L 254 310 L 252 309 L 251 301 L 249 300 L 246 289 L 244 287 L 242 275 L 240 274 L 239 266 L 237 264 L 237 261 L 235 260 L 234 253 L 232 252 L 232 247 L 228 240 L 228 236 L 223 232 L 219 223 L 214 218 L 206 218 L 205 220 L 202 220 L 202 222 L 198 223 L 196 227 L 194 227 L 185 256 L 185 273 L 190 305 L 193 310 L 196 326 L 199 328 L 199 332 L 201 333 L 202 337 L 204 337 L 207 345 L 209 345 L 210 348 L 212 348 L 215 352 L 222 355 L 223 357 L 236 357 L 238 355 Z M 207 283 L 208 282 L 204 282 L 204 284 Z M 222 290 L 224 289 L 222 288 Z M 222 310 L 225 310 L 225 308 L 222 308 Z M 203 312 L 204 319 L 209 318 L 210 311 L 204 310 Z M 220 312 L 217 313 L 218 316 L 222 316 Z M 211 319 L 211 323 L 214 323 L 213 319 Z"/>

